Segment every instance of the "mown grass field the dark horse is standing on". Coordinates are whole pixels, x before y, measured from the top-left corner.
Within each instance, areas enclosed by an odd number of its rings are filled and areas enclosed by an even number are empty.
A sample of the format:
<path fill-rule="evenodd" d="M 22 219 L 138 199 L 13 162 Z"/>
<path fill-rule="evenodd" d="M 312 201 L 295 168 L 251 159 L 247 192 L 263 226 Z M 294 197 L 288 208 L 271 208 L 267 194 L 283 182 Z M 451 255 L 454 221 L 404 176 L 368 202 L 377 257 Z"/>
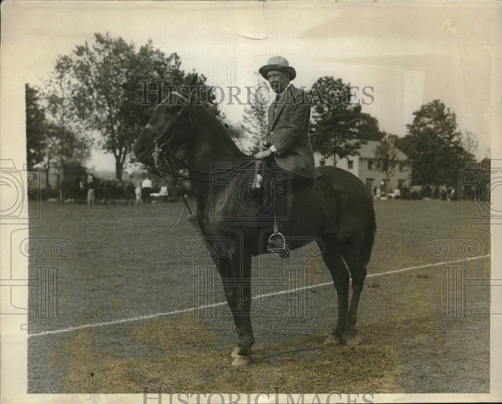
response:
<path fill-rule="evenodd" d="M 464 208 L 475 212 L 475 202 Z M 140 393 L 142 385 L 165 391 L 489 391 L 489 316 L 470 311 L 489 305 L 488 287 L 466 288 L 467 319 L 482 329 L 427 328 L 443 318 L 442 261 L 427 252 L 429 240 L 446 237 L 454 244 L 452 237 L 474 237 L 482 243 L 478 255 L 489 254 L 488 233 L 459 219 L 458 202 L 375 203 L 378 233 L 357 323 L 361 345 L 322 344 L 336 321 L 332 285 L 309 291 L 310 320 L 322 324 L 320 330 L 271 330 L 285 305 L 284 295 L 272 295 L 254 300 L 255 363 L 245 369 L 230 366 L 231 330 L 205 330 L 199 323 L 178 329 L 194 316 L 187 310 L 194 306 L 194 263 L 180 255 L 178 243 L 195 233 L 186 219 L 175 226 L 181 209 L 181 203 L 43 203 L 31 236 L 73 241 L 74 253 L 60 264 L 59 311 L 77 328 L 31 331 L 28 392 Z M 208 256 L 201 246 L 199 258 Z M 489 257 L 469 260 L 467 279 L 488 279 L 489 268 Z M 253 271 L 254 277 L 284 278 L 284 263 L 255 257 Z M 310 285 L 330 280 L 322 260 L 311 258 Z M 281 288 L 256 288 L 253 295 Z M 223 302 L 221 288 L 217 293 Z M 218 318 L 231 322 L 225 308 L 218 307 Z M 270 314 L 274 309 L 281 313 Z"/>

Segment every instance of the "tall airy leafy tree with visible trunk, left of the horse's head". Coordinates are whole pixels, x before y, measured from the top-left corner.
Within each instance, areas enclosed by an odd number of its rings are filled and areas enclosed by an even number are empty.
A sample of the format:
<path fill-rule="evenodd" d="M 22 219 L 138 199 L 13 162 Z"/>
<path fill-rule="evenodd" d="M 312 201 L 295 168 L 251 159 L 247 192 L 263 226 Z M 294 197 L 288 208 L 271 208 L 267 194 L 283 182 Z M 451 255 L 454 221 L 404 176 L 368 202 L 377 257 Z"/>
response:
<path fill-rule="evenodd" d="M 86 42 L 77 46 L 71 55 L 72 100 L 77 115 L 87 129 L 100 134 L 98 146 L 115 157 L 117 179 L 122 176 L 133 136 L 139 132 L 133 135 L 130 124 L 141 112 L 138 107 L 141 101 L 131 99 L 131 90 L 134 93 L 139 84 L 134 79 L 137 77 L 134 56 L 133 44 L 121 38 L 113 39 L 109 34 L 96 34 L 94 45 Z M 145 71 L 148 78 L 152 77 L 149 73 Z"/>

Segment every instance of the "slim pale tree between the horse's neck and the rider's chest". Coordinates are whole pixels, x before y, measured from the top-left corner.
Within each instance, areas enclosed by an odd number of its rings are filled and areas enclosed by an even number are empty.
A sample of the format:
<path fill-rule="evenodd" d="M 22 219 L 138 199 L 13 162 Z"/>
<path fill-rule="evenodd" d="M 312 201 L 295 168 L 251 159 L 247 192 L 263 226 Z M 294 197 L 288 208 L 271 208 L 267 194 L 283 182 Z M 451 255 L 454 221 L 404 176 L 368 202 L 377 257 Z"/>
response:
<path fill-rule="evenodd" d="M 265 139 L 267 135 L 268 125 L 268 101 L 269 96 L 259 89 L 267 86 L 267 82 L 258 74 L 258 83 L 253 88 L 254 96 L 251 97 L 251 103 L 244 107 L 242 115 L 241 128 L 244 131 L 244 136 L 249 142 L 248 153 L 255 154 L 258 152 L 258 144 Z"/>

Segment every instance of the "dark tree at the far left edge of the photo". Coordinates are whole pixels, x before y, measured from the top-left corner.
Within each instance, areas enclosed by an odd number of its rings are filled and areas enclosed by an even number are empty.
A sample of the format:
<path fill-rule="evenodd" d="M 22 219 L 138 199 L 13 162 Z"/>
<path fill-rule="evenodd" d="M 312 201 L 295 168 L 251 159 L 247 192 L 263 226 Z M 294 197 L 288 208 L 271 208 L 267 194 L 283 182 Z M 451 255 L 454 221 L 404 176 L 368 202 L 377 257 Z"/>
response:
<path fill-rule="evenodd" d="M 40 89 L 25 84 L 26 103 L 26 162 L 36 165 L 43 160 L 45 109 L 41 106 Z"/>

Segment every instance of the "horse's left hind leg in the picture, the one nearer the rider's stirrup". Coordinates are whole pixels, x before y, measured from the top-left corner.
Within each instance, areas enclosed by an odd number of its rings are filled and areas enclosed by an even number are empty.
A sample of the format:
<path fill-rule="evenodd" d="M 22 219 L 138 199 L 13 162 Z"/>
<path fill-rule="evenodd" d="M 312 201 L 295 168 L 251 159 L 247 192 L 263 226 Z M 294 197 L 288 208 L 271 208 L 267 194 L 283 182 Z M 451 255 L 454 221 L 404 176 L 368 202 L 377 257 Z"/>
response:
<path fill-rule="evenodd" d="M 333 332 L 328 335 L 327 345 L 340 345 L 342 334 L 345 331 L 348 312 L 348 282 L 349 275 L 343 262 L 342 256 L 335 246 L 334 238 L 325 239 L 325 250 L 322 254 L 324 263 L 331 273 L 331 278 L 338 295 L 338 319 Z"/>

